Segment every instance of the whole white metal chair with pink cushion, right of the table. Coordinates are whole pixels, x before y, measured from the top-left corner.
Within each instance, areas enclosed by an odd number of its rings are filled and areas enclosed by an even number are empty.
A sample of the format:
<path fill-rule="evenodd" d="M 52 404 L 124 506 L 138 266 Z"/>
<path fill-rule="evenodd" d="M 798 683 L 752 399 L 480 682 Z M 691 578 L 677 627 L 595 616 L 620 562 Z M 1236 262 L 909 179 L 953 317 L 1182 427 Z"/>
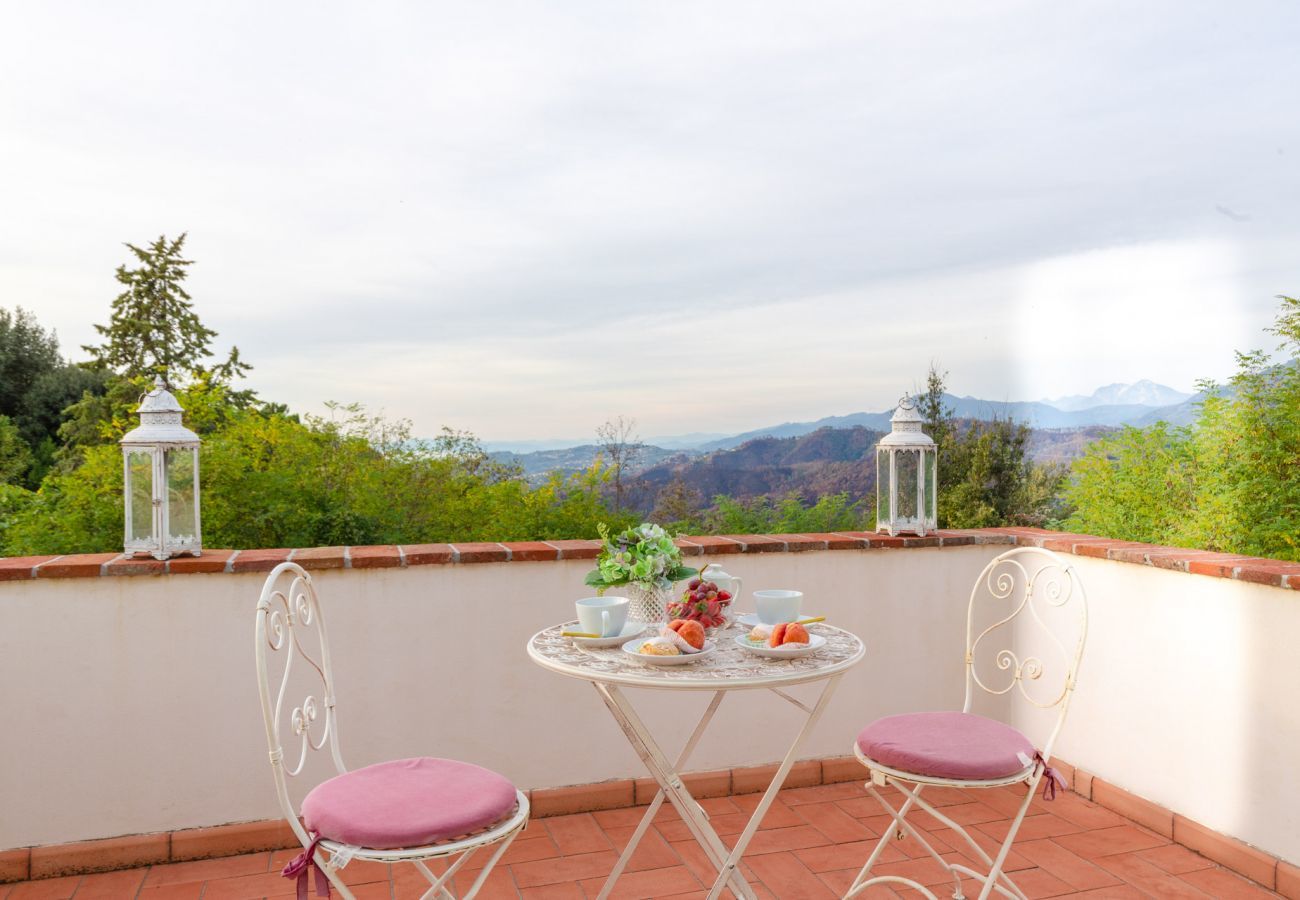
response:
<path fill-rule="evenodd" d="M 982 601 L 984 601 L 982 603 Z M 985 607 L 1001 607 L 989 618 L 992 624 L 980 628 L 976 615 Z M 983 622 L 983 620 L 982 620 Z M 1074 693 L 1079 661 L 1088 629 L 1088 605 L 1074 566 L 1049 550 L 1018 548 L 991 562 L 971 589 L 966 610 L 966 702 L 961 713 L 915 713 L 892 715 L 872 722 L 858 735 L 853 752 L 871 773 L 867 792 L 894 819 L 866 865 L 849 887 L 853 897 L 872 884 L 905 884 L 932 900 L 936 895 L 919 882 L 898 875 L 871 877 L 871 869 L 892 838 L 915 839 L 953 878 L 953 897 L 961 900 L 962 875 L 982 883 L 980 900 L 993 891 L 1009 897 L 1024 892 L 1002 871 L 1006 856 L 1039 783 L 1046 778 L 1044 796 L 1056 796 L 1063 779 L 1048 765 L 1052 745 L 1065 723 Z M 1045 639 L 1048 653 L 1030 655 L 1019 649 Z M 992 659 L 991 670 L 982 668 L 982 659 Z M 1050 671 L 1050 678 L 1044 675 Z M 1039 710 L 1056 710 L 1054 724 L 1041 750 L 1018 730 L 971 713 L 975 691 L 1008 696 L 1014 702 L 1027 702 Z M 1035 715 L 1035 714 L 1031 714 Z M 1050 713 L 1037 713 L 1050 721 Z M 927 787 L 991 788 L 1024 783 L 1027 791 L 996 858 L 940 809 L 922 799 Z M 894 809 L 881 796 L 880 787 L 897 788 L 905 802 Z M 918 806 L 970 844 L 988 866 L 978 873 L 959 862 L 945 861 L 926 839 L 926 832 L 907 822 L 906 815 Z"/>

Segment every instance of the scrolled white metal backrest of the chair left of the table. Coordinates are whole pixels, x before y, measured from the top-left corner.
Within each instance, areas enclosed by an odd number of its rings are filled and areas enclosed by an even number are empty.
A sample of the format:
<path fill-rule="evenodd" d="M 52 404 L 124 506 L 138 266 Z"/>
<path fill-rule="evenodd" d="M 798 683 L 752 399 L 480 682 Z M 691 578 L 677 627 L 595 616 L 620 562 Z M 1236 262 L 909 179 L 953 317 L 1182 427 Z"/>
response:
<path fill-rule="evenodd" d="M 287 779 L 303 771 L 312 752 L 328 745 L 334 767 L 339 774 L 347 771 L 338 749 L 334 675 L 325 620 L 311 575 L 300 566 L 281 563 L 266 576 L 257 600 L 255 642 L 257 688 L 276 791 L 287 818 L 296 821 Z M 272 663 L 281 661 L 283 667 L 273 672 Z M 289 697 L 290 679 L 298 671 L 311 685 L 302 701 Z M 286 724 L 292 736 L 282 739 Z M 289 760 L 285 758 L 285 740 L 291 744 Z"/>

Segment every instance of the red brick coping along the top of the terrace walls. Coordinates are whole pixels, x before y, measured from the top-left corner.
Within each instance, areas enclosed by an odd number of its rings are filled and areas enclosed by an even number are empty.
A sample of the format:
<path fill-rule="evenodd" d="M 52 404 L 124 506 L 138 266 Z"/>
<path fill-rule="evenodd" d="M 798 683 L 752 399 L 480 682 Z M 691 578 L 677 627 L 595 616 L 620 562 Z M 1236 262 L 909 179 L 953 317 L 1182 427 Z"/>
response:
<path fill-rule="evenodd" d="M 1210 550 L 1117 541 L 1091 535 L 1069 535 L 1045 528 L 976 528 L 939 531 L 926 537 L 889 537 L 874 532 L 812 535 L 701 535 L 677 541 L 686 557 L 716 557 L 732 553 L 801 553 L 806 550 L 876 550 L 897 548 L 1006 544 L 1037 546 L 1079 557 L 1112 559 L 1169 568 L 1192 575 L 1235 579 L 1252 584 L 1300 590 L 1300 563 L 1261 559 Z M 0 581 L 51 577 L 98 577 L 113 575 L 188 575 L 216 572 L 265 572 L 292 561 L 316 568 L 406 568 L 410 566 L 468 564 L 488 562 L 547 562 L 595 559 L 599 541 L 515 541 L 467 544 L 404 544 L 381 546 L 330 546 L 276 550 L 204 550 L 202 557 L 127 559 L 121 553 L 86 553 L 62 557 L 0 558 Z"/>

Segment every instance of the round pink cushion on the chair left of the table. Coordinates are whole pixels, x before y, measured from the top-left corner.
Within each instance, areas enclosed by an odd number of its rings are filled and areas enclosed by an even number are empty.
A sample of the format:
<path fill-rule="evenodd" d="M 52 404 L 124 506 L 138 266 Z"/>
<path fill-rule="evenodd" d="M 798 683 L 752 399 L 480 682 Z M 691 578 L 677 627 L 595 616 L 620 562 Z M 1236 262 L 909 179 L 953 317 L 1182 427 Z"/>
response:
<path fill-rule="evenodd" d="M 355 847 L 426 847 L 478 831 L 515 809 L 515 786 L 455 760 L 394 760 L 317 784 L 303 825 Z"/>

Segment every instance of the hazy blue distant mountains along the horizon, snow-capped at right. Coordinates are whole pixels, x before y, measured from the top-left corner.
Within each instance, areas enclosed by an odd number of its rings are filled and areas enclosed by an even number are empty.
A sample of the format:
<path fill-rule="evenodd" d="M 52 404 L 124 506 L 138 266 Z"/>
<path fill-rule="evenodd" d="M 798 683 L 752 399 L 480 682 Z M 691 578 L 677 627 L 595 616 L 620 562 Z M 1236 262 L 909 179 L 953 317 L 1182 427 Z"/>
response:
<path fill-rule="evenodd" d="M 1201 394 L 1187 394 L 1149 380 L 1112 384 L 1098 388 L 1087 397 L 1080 394 L 1054 401 L 987 401 L 944 394 L 944 402 L 958 419 L 1011 419 L 1030 425 L 1035 429 L 1031 443 L 1034 457 L 1061 462 L 1078 457 L 1092 440 L 1121 425 L 1144 427 L 1156 421 L 1190 424 L 1201 399 L 1204 399 Z M 740 434 L 692 433 L 655 437 L 645 441 L 634 468 L 649 472 L 668 463 L 680 464 L 720 450 L 733 450 L 759 438 L 796 438 L 823 429 L 864 429 L 883 433 L 889 430 L 893 410 L 853 412 L 814 421 L 786 421 Z M 824 438 L 816 446 L 824 446 Z M 485 443 L 485 447 L 494 459 L 519 464 L 533 480 L 543 479 L 554 470 L 584 470 L 592 464 L 598 453 L 598 447 L 590 442 L 560 440 L 497 441 Z M 701 485 L 703 486 L 706 485 Z"/>

